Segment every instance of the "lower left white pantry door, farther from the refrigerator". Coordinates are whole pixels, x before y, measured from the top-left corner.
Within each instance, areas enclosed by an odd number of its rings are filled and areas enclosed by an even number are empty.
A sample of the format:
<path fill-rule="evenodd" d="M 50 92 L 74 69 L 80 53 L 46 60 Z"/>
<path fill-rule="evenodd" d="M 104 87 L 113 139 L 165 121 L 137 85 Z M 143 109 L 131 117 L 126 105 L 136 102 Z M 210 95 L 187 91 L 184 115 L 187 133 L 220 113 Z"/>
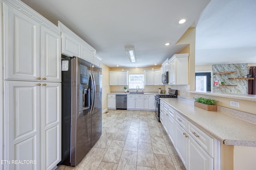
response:
<path fill-rule="evenodd" d="M 39 169 L 40 86 L 37 82 L 6 81 L 4 91 L 7 160 L 35 160 L 36 164 L 26 169 Z M 8 166 L 9 169 L 24 169 L 24 164 Z"/>

